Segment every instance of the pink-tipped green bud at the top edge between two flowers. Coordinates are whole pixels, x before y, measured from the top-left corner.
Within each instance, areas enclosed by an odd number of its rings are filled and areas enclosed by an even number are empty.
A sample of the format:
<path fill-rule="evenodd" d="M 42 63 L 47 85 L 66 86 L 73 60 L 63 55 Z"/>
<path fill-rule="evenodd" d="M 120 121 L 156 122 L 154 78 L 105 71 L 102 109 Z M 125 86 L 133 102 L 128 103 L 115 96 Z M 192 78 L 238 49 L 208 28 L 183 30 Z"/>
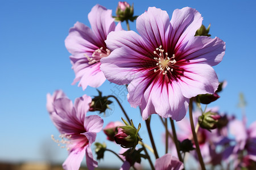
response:
<path fill-rule="evenodd" d="M 121 21 L 125 21 L 125 20 L 130 20 L 131 22 L 133 22 L 135 19 L 137 19 L 138 16 L 133 16 L 133 5 L 130 6 L 129 3 L 127 2 L 118 2 L 118 6 L 117 6 L 117 10 L 115 11 L 115 14 L 117 14 L 117 16 L 115 16 L 115 20 L 117 22 Z"/>

